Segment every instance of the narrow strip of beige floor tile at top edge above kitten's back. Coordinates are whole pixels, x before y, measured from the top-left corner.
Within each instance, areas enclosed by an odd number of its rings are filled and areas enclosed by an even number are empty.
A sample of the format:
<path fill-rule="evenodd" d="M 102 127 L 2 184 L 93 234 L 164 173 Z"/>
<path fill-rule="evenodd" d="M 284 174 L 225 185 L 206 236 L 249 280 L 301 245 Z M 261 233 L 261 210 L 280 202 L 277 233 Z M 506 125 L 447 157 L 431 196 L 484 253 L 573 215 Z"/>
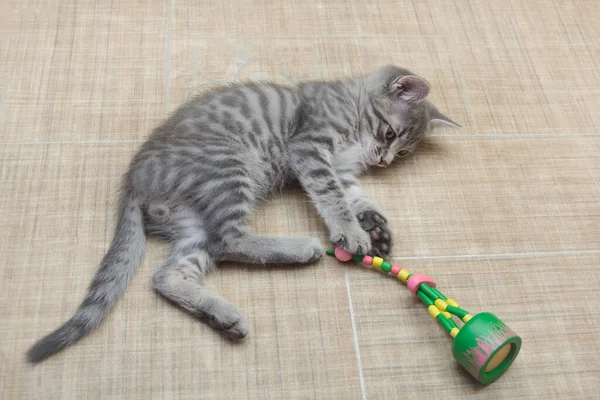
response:
<path fill-rule="evenodd" d="M 173 36 L 439 35 L 435 1 L 173 2 Z M 234 22 L 235 21 L 235 22 Z"/>

